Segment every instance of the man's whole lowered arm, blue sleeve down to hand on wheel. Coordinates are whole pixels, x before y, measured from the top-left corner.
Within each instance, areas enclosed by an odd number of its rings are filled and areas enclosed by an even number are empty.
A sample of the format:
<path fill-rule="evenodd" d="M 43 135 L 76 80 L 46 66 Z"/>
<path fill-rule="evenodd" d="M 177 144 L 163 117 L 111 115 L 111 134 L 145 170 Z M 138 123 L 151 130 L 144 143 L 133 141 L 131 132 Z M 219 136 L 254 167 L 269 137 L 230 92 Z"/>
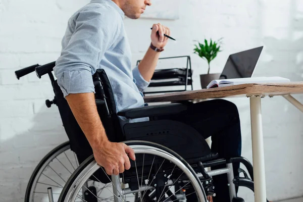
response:
<path fill-rule="evenodd" d="M 113 33 L 117 29 L 115 19 L 111 17 L 106 11 L 80 12 L 74 22 L 75 31 L 56 61 L 54 72 L 96 162 L 105 168 L 107 174 L 118 175 L 130 168 L 127 155 L 134 160 L 134 151 L 124 143 L 108 140 L 96 110 L 92 81 L 99 58 L 110 46 L 113 40 L 111 36 L 115 35 Z"/>

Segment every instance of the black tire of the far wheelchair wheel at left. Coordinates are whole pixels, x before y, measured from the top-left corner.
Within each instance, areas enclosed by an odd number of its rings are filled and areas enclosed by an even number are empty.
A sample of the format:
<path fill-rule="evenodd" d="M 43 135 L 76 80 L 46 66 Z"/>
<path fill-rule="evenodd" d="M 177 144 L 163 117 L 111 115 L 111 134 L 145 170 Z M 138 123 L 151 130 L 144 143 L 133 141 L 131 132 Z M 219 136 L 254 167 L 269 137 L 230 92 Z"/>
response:
<path fill-rule="evenodd" d="M 25 191 L 25 198 L 24 198 L 24 201 L 25 202 L 33 202 L 33 201 L 30 201 L 30 193 L 31 193 L 31 189 L 32 189 L 32 186 L 33 186 L 33 183 L 34 183 L 34 179 L 35 177 L 37 176 L 39 170 L 41 169 L 41 167 L 44 165 L 44 163 L 49 159 L 51 158 L 58 150 L 64 148 L 64 147 L 67 147 L 67 146 L 70 146 L 70 142 L 69 141 L 66 141 L 62 144 L 60 144 L 59 146 L 55 147 L 53 150 L 49 151 L 49 153 L 43 157 L 43 159 L 39 162 L 39 164 L 36 166 L 33 174 L 30 176 L 30 179 L 28 181 L 28 184 L 27 184 L 27 187 L 26 187 L 26 191 Z"/>

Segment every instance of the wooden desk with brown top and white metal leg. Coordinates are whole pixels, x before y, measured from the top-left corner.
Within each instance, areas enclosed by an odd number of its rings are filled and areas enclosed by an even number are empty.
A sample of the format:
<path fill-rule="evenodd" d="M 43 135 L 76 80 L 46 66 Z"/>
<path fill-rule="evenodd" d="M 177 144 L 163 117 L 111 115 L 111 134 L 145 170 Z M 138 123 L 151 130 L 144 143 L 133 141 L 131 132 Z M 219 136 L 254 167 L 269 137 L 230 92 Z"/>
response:
<path fill-rule="evenodd" d="M 144 101 L 146 103 L 153 103 L 237 96 L 249 97 L 255 201 L 266 202 L 261 98 L 264 96 L 282 95 L 291 104 L 303 112 L 303 105 L 290 95 L 296 93 L 303 93 L 303 82 L 241 84 L 212 89 L 145 96 Z"/>

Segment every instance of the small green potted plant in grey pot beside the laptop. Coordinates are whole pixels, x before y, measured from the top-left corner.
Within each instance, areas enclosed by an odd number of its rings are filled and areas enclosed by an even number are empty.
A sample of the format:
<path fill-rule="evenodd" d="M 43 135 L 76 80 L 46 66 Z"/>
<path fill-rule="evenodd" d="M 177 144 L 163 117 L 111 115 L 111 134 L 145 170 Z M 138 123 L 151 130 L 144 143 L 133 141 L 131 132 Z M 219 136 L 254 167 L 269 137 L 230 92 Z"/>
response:
<path fill-rule="evenodd" d="M 207 39 L 204 40 L 204 44 L 198 42 L 198 46 L 195 45 L 194 53 L 197 54 L 202 59 L 205 59 L 208 62 L 208 72 L 207 74 L 200 74 L 201 87 L 206 88 L 206 86 L 215 79 L 220 78 L 220 74 L 210 74 L 211 65 L 210 63 L 217 57 L 217 54 L 221 52 L 221 39 L 218 41 L 208 42 Z"/>

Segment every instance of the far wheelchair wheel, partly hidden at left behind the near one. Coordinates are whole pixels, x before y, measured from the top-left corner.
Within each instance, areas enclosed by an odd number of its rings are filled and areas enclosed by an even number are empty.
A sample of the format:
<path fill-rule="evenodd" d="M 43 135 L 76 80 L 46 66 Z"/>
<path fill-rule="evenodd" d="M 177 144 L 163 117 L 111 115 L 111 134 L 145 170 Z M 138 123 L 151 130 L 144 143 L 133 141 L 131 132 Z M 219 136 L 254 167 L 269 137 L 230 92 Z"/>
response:
<path fill-rule="evenodd" d="M 52 188 L 57 201 L 65 183 L 78 166 L 69 141 L 54 148 L 39 162 L 31 175 L 25 192 L 25 202 L 48 202 L 48 188 Z"/>

